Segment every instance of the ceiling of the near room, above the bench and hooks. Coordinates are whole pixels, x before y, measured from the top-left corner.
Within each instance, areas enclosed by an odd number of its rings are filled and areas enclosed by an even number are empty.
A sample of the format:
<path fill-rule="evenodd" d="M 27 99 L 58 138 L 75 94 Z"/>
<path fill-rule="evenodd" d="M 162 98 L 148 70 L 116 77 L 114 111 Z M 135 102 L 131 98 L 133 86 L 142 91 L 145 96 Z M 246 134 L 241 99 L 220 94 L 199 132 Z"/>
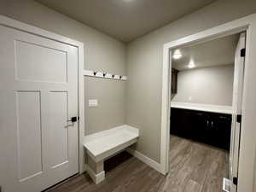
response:
<path fill-rule="evenodd" d="M 127 43 L 215 0 L 36 0 Z"/>

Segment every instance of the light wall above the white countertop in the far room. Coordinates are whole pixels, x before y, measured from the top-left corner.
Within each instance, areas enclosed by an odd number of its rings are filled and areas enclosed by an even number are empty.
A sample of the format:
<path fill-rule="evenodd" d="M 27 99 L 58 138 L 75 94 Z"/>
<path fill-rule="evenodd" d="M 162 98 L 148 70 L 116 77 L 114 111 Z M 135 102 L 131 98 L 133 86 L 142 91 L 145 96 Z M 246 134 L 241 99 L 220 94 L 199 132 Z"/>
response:
<path fill-rule="evenodd" d="M 172 102 L 232 106 L 233 81 L 234 65 L 180 71 Z"/>

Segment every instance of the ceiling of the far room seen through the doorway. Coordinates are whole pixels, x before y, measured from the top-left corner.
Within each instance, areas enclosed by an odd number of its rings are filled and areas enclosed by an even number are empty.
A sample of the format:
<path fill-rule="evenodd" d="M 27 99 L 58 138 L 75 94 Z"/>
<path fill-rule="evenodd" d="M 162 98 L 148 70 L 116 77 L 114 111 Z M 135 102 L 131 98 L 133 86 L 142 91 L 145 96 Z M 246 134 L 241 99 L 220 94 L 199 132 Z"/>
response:
<path fill-rule="evenodd" d="M 180 48 L 183 56 L 179 60 L 172 60 L 172 67 L 179 71 L 189 69 L 190 59 L 195 62 L 195 68 L 234 64 L 238 39 L 239 34 L 235 34 Z"/>

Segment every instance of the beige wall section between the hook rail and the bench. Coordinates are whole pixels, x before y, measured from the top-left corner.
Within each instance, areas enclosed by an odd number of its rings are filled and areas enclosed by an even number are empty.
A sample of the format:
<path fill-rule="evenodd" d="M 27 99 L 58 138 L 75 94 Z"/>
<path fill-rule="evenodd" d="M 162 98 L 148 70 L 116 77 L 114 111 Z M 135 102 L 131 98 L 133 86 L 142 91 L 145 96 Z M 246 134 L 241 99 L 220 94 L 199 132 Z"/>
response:
<path fill-rule="evenodd" d="M 95 79 L 86 77 L 85 87 L 90 87 L 85 93 L 85 127 L 86 133 L 103 131 L 125 124 L 125 81 L 112 79 Z M 89 99 L 98 99 L 97 108 L 89 108 Z"/>

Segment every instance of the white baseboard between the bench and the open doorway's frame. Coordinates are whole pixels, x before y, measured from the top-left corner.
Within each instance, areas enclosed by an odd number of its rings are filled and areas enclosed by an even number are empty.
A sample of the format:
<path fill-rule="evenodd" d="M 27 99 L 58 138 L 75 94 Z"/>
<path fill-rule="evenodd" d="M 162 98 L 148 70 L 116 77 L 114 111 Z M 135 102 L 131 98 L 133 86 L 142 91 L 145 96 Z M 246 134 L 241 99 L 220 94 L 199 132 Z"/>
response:
<path fill-rule="evenodd" d="M 134 150 L 132 148 L 127 148 L 126 151 L 135 156 L 137 159 L 143 161 L 143 163 L 147 164 L 148 166 L 151 166 L 154 170 L 156 170 L 157 172 L 161 172 L 161 166 L 160 163 L 150 159 L 149 157 L 147 157 L 146 155 L 138 152 L 137 150 Z"/>

